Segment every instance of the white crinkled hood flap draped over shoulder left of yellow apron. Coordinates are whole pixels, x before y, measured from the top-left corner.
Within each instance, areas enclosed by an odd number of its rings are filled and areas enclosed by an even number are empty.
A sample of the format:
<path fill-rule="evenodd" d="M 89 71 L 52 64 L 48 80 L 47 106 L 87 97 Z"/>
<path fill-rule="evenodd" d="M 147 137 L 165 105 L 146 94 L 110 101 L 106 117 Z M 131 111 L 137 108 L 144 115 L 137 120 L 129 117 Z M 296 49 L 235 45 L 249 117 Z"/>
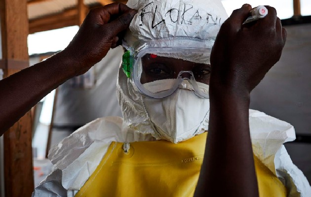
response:
<path fill-rule="evenodd" d="M 150 135 L 140 135 L 128 130 L 122 118 L 107 117 L 92 121 L 75 131 L 67 140 L 63 140 L 66 143 L 61 142 L 54 146 L 49 151 L 49 159 L 55 164 L 55 168 L 62 170 L 63 177 L 71 177 L 62 179 L 64 188 L 75 190 L 93 173 L 112 141 L 150 140 L 153 140 Z"/>

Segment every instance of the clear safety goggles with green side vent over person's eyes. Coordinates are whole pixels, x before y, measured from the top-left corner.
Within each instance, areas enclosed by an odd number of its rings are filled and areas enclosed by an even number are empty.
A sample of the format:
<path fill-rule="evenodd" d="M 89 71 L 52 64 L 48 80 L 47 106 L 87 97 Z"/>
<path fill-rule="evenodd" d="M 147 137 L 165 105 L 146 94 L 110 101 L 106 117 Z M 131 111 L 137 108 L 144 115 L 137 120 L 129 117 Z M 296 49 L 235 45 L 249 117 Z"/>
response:
<path fill-rule="evenodd" d="M 179 39 L 178 44 L 182 41 L 189 43 L 189 38 Z M 202 45 L 201 40 L 194 41 Z M 171 43 L 152 44 L 142 43 L 138 49 L 123 55 L 123 71 L 142 94 L 160 99 L 172 95 L 177 89 L 187 89 L 199 98 L 209 98 L 211 47 L 206 47 L 204 42 L 204 48 L 189 47 L 186 43 L 186 47 L 176 47 L 176 43 L 173 47 L 169 46 Z"/>

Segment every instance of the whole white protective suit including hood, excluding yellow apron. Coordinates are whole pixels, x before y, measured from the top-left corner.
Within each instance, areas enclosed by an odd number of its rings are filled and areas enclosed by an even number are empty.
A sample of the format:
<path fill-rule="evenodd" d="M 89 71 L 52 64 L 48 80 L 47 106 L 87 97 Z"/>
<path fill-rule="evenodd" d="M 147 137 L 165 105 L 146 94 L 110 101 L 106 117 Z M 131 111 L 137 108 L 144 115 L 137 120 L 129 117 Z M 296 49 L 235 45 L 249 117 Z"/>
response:
<path fill-rule="evenodd" d="M 130 25 L 131 33 L 125 36 L 125 47 L 141 38 L 215 38 L 221 23 L 227 18 L 220 0 L 129 0 L 128 6 L 139 12 Z M 156 122 L 146 109 L 144 97 L 121 68 L 117 95 L 124 119 L 96 119 L 54 146 L 49 152 L 54 170 L 35 189 L 33 197 L 75 196 L 105 156 L 112 141 L 125 143 L 161 139 L 156 131 Z M 189 100 L 188 104 L 193 103 Z M 192 110 L 189 113 L 196 112 Z M 201 118 L 195 134 L 208 128 L 208 113 Z M 279 177 L 289 196 L 310 197 L 309 182 L 292 163 L 283 145 L 295 139 L 293 126 L 255 110 L 249 111 L 249 124 L 254 154 Z"/>

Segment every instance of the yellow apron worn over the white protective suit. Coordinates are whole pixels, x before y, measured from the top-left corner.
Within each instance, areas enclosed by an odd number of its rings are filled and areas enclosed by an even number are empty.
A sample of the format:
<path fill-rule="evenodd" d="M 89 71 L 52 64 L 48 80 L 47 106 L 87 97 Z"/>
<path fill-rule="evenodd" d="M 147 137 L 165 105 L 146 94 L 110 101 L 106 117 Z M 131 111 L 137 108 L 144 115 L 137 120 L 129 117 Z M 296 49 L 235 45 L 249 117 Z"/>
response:
<path fill-rule="evenodd" d="M 192 197 L 206 136 L 205 132 L 178 144 L 133 142 L 127 154 L 123 143 L 112 142 L 75 197 Z M 254 160 L 260 197 L 286 197 L 278 178 L 256 157 Z"/>

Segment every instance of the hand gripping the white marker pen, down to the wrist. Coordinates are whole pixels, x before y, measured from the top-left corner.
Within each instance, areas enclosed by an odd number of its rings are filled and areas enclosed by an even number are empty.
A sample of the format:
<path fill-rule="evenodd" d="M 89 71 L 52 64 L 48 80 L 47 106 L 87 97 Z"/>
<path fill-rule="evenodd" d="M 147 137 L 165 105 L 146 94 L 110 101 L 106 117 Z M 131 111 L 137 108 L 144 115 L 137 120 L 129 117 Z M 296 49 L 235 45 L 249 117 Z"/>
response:
<path fill-rule="evenodd" d="M 251 10 L 249 4 L 244 4 L 224 22 L 212 49 L 210 85 L 250 93 L 280 59 L 286 30 L 276 10 L 267 8 L 265 18 L 242 25 Z"/>

